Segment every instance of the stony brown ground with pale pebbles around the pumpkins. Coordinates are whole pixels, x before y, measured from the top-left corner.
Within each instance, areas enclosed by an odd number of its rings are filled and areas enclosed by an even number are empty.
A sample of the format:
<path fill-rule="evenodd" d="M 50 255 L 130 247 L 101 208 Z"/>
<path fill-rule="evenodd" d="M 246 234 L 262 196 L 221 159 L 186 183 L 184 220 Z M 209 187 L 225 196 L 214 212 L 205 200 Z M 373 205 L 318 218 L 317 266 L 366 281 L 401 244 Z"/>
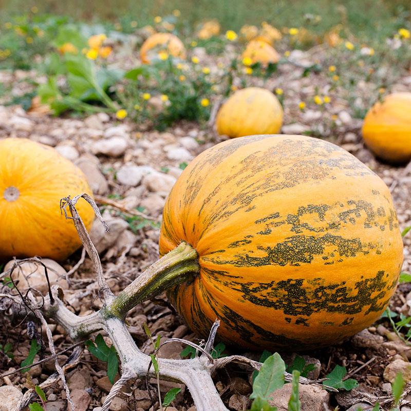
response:
<path fill-rule="evenodd" d="M 335 99 L 326 110 L 324 108 L 307 109 L 304 112 L 296 109 L 298 101 L 304 100 L 304 94 L 312 94 L 315 85 L 312 79 L 301 78 L 300 69 L 282 69 L 279 76 L 272 80 L 270 87 L 287 84 L 288 99 L 285 101 L 285 125 L 283 133 L 301 134 L 308 130 L 321 131 L 322 134 L 337 142 L 346 150 L 356 155 L 375 171 L 391 188 L 398 218 L 402 228 L 411 222 L 411 170 L 409 166 L 393 167 L 377 161 L 364 147 L 361 141 L 361 121 L 352 118 L 349 107 Z M 3 80 L 9 74 L 3 74 Z M 11 76 L 11 77 L 10 77 Z M 394 87 L 402 90 L 411 84 L 411 77 L 404 77 Z M 361 85 L 359 85 L 361 87 Z M 332 134 L 324 124 L 333 119 Z M 327 120 L 327 121 L 326 121 Z M 328 131 L 327 131 L 328 130 Z M 332 137 L 330 137 L 332 135 Z M 97 202 L 102 207 L 103 217 L 110 227 L 109 234 L 104 234 L 102 226 L 95 223 L 91 236 L 103 261 L 105 276 L 114 292 L 130 283 L 146 267 L 158 258 L 159 221 L 165 197 L 174 182 L 188 163 L 197 154 L 220 141 L 211 127 L 199 128 L 196 123 L 179 123 L 166 132 L 154 130 L 142 131 L 137 124 L 119 122 L 105 113 L 86 118 L 54 118 L 36 109 L 26 113 L 20 106 L 0 106 L 0 138 L 20 137 L 53 146 L 64 157 L 77 164 L 85 173 L 89 184 L 97 195 Z M 135 215 L 136 207 L 141 207 L 143 215 Z M 411 236 L 404 239 L 403 271 L 411 270 Z M 79 265 L 77 263 L 80 262 Z M 51 274 L 54 281 L 64 289 L 65 301 L 76 313 L 87 314 L 100 308 L 97 298 L 96 276 L 91 261 L 83 260 L 81 250 L 72 255 L 62 265 L 48 261 L 53 267 Z M 6 266 L 6 270 L 7 270 Z M 23 267 L 25 272 L 36 269 Z M 69 272 L 68 282 L 64 274 Z M 23 278 L 23 277 L 21 277 Z M 34 287 L 41 288 L 32 274 Z M 43 285 L 44 287 L 44 285 Z M 391 302 L 391 309 L 411 315 L 411 286 L 403 284 L 398 287 Z M 7 339 L 14 341 L 14 360 L 0 353 L 0 372 L 12 371 L 27 357 L 29 337 L 27 324 L 13 324 L 2 316 L 0 342 Z M 161 334 L 162 340 L 179 337 L 196 341 L 195 335 L 184 325 L 181 318 L 169 307 L 146 302 L 129 313 L 126 322 L 133 337 L 144 352 L 151 352 L 152 346 L 142 328 L 145 322 L 153 335 Z M 72 345 L 60 326 L 51 325 L 53 340 L 57 351 Z M 173 343 L 162 349 L 160 356 L 179 358 L 182 350 L 180 343 Z M 69 353 L 59 356 L 64 362 Z M 229 350 L 230 352 L 230 350 Z M 286 362 L 294 354 L 282 353 Z M 381 321 L 375 326 L 357 334 L 340 345 L 322 349 L 318 352 L 307 352 L 308 362 L 315 365 L 310 378 L 324 376 L 335 364 L 347 367 L 349 376 L 360 382 L 358 389 L 349 393 L 331 395 L 327 391 L 311 386 L 302 388 L 302 409 L 328 410 L 339 405 L 339 409 L 357 409 L 353 406 L 361 400 L 364 407 L 388 398 L 391 391 L 390 382 L 397 371 L 403 372 L 404 378 L 411 381 L 411 350 L 390 328 L 388 321 Z M 247 356 L 258 359 L 258 353 L 247 353 Z M 45 352 L 44 356 L 49 356 Z M 35 361 L 40 359 L 36 356 Z M 77 411 L 99 411 L 104 397 L 111 384 L 107 378 L 106 363 L 96 360 L 87 351 L 80 364 L 67 373 L 71 396 Z M 54 371 L 53 361 L 35 365 L 29 371 L 32 383 L 44 381 Z M 218 373 L 216 387 L 230 409 L 241 411 L 249 406 L 248 396 L 251 393 L 250 372 L 238 367 L 229 367 Z M 0 387 L 0 411 L 12 409 L 15 399 L 21 391 L 29 387 L 26 375 L 20 372 L 4 377 Z M 161 383 L 163 393 L 175 384 Z M 193 403 L 182 386 L 181 393 L 173 402 L 174 408 L 169 411 L 193 411 Z M 155 395 L 155 390 L 153 390 Z M 47 411 L 67 409 L 65 393 L 61 383 L 46 389 Z M 282 392 L 276 396 L 279 410 L 285 410 L 289 394 Z M 408 405 L 410 404 L 408 408 Z M 353 406 L 353 407 L 352 407 Z M 113 402 L 111 410 L 157 410 L 159 404 L 152 404 L 145 387 L 145 382 L 137 380 L 127 387 Z M 405 397 L 401 411 L 411 409 L 411 395 Z"/>

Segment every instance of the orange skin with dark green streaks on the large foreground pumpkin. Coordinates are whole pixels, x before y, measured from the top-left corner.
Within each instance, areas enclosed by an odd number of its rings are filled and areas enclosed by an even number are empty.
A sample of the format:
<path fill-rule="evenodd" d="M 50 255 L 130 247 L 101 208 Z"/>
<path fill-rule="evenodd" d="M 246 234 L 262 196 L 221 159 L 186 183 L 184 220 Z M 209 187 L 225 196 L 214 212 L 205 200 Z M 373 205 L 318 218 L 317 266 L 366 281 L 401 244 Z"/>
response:
<path fill-rule="evenodd" d="M 168 292 L 189 326 L 251 349 L 317 348 L 372 324 L 403 261 L 384 182 L 305 136 L 227 140 L 196 157 L 166 200 L 160 254 L 188 242 L 200 273 Z"/>

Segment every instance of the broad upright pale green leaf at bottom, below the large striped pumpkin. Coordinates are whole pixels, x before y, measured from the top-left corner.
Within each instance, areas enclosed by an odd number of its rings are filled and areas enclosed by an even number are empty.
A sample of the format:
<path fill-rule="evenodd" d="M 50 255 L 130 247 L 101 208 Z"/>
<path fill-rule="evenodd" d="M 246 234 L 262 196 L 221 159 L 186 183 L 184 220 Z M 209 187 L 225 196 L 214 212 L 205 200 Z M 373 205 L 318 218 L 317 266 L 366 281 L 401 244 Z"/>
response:
<path fill-rule="evenodd" d="M 250 398 L 261 397 L 268 399 L 276 389 L 284 385 L 285 370 L 284 361 L 277 352 L 268 357 L 254 380 L 253 392 Z"/>

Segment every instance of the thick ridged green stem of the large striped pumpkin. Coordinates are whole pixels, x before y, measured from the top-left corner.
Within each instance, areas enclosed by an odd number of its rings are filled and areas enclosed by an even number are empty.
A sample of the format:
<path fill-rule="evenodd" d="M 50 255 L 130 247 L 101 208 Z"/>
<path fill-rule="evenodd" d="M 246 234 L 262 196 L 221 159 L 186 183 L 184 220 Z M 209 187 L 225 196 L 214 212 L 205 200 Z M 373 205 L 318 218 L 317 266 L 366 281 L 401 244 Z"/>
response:
<path fill-rule="evenodd" d="M 197 251 L 183 241 L 121 291 L 113 302 L 103 308 L 103 315 L 123 319 L 127 311 L 137 304 L 189 281 L 199 271 Z"/>

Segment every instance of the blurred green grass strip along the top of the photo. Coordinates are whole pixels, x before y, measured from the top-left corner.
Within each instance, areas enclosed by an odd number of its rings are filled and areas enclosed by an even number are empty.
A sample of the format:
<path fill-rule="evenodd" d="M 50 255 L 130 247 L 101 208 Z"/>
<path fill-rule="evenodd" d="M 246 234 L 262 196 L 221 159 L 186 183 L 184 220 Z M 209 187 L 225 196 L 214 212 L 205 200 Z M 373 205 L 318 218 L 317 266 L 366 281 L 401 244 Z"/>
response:
<path fill-rule="evenodd" d="M 82 0 L 5 0 L 1 20 L 13 14 L 34 10 L 39 13 L 67 15 L 77 20 L 111 21 L 127 24 L 132 20 L 139 27 L 152 23 L 156 15 L 169 15 L 174 9 L 190 26 L 217 18 L 225 29 L 238 30 L 244 24 L 259 25 L 267 21 L 276 27 L 305 27 L 316 34 L 324 34 L 331 27 L 343 24 L 348 35 L 362 40 L 378 41 L 398 28 L 409 25 L 409 0 L 257 0 L 252 3 L 237 0 L 90 0 L 84 8 Z M 320 16 L 321 20 L 312 18 Z M 408 23 L 407 23 L 408 22 Z M 378 38 L 376 38 L 378 33 Z"/>

